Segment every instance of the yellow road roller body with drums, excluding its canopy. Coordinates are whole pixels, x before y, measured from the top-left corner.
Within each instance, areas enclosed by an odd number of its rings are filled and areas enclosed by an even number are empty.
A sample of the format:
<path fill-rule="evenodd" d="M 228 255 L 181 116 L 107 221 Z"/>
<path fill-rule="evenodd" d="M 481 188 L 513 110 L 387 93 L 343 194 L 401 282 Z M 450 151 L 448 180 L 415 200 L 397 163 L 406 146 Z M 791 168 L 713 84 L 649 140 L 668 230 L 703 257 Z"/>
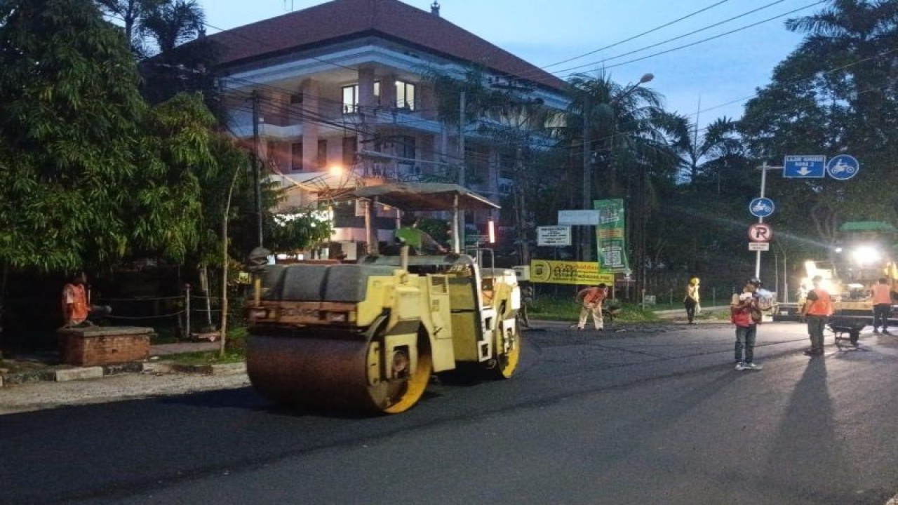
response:
<path fill-rule="evenodd" d="M 398 413 L 435 374 L 512 377 L 521 352 L 514 270 L 467 254 L 266 265 L 248 303 L 247 373 L 276 403 Z"/>

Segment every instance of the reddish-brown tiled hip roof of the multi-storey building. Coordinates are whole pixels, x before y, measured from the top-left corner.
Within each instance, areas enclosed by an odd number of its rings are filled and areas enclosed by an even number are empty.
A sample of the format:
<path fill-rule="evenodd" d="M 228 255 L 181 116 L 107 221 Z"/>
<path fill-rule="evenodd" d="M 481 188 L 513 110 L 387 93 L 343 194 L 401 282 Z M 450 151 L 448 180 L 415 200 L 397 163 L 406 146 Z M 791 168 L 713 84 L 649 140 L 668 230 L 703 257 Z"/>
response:
<path fill-rule="evenodd" d="M 566 86 L 558 77 L 462 30 L 438 14 L 399 0 L 333 0 L 221 31 L 209 35 L 207 40 L 219 45 L 219 63 L 229 65 L 368 35 L 400 40 L 552 89 Z"/>

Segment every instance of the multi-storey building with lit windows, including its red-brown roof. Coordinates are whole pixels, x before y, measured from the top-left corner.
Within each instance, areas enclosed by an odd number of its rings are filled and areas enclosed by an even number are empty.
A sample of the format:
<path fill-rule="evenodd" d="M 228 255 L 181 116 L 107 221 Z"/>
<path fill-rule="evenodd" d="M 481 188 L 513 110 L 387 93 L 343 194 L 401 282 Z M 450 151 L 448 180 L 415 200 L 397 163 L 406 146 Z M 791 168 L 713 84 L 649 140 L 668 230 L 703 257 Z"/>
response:
<path fill-rule="evenodd" d="M 497 202 L 514 187 L 514 149 L 480 127 L 515 121 L 467 117 L 461 106 L 441 114 L 434 75 L 463 79 L 476 66 L 488 89 L 548 110 L 568 104 L 562 80 L 446 21 L 436 2 L 427 12 L 398 0 L 333 0 L 207 39 L 233 135 L 285 185 L 286 208 L 326 200 L 336 209 L 333 240 L 350 260 L 361 251 L 351 244 L 365 241 L 357 205 L 344 199 L 357 185 L 456 182 Z M 396 210 L 377 214 L 386 238 Z M 495 217 L 471 215 L 468 226 Z"/>

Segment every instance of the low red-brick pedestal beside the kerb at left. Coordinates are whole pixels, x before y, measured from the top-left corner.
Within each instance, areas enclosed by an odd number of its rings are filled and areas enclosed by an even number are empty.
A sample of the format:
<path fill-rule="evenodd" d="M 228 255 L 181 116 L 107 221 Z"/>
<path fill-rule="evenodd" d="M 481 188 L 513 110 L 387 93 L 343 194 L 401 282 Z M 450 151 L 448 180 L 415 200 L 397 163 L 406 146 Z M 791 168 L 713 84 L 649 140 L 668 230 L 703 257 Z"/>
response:
<path fill-rule="evenodd" d="M 58 333 L 64 363 L 95 367 L 148 359 L 153 328 L 89 326 L 65 328 Z"/>

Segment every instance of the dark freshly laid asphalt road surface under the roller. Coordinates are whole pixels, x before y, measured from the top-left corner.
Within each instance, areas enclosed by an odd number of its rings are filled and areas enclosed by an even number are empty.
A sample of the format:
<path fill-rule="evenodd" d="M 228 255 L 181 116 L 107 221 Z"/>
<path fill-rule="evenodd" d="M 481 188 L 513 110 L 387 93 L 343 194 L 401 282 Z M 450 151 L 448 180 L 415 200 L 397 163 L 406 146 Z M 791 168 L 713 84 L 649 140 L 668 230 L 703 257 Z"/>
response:
<path fill-rule="evenodd" d="M 898 493 L 898 337 L 809 359 L 798 323 L 525 332 L 511 380 L 399 415 L 250 387 L 0 416 L 2 503 L 877 504 Z M 106 380 L 106 379 L 101 379 Z"/>

